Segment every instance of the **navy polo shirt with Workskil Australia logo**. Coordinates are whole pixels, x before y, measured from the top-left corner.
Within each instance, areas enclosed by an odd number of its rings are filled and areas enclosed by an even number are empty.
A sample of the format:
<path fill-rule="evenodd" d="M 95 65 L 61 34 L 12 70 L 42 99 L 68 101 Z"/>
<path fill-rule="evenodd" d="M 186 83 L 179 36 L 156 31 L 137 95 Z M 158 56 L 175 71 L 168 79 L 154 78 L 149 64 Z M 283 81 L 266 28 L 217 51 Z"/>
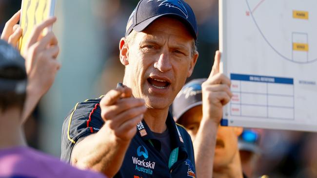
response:
<path fill-rule="evenodd" d="M 62 127 L 61 159 L 70 162 L 74 146 L 104 124 L 99 106 L 101 98 L 78 103 L 66 116 Z M 174 122 L 169 113 L 166 125 L 171 139 L 168 165 L 160 155 L 160 142 L 146 123 L 141 121 L 119 172 L 115 178 L 195 178 L 195 159 L 192 140 L 187 131 Z M 89 149 L 89 145 L 87 145 Z"/>

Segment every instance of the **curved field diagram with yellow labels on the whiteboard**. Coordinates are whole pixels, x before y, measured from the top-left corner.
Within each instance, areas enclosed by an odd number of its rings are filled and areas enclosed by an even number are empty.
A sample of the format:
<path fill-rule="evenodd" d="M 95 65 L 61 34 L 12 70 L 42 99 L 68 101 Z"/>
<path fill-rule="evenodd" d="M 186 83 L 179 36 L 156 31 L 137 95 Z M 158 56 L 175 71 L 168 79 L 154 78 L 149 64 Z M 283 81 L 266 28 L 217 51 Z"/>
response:
<path fill-rule="evenodd" d="M 251 16 L 261 36 L 278 55 L 297 63 L 317 61 L 317 50 L 310 50 L 310 46 L 317 46 L 316 24 L 312 20 L 317 18 L 316 1 L 245 1 L 246 16 Z M 301 8 L 299 3 L 306 7 Z"/>

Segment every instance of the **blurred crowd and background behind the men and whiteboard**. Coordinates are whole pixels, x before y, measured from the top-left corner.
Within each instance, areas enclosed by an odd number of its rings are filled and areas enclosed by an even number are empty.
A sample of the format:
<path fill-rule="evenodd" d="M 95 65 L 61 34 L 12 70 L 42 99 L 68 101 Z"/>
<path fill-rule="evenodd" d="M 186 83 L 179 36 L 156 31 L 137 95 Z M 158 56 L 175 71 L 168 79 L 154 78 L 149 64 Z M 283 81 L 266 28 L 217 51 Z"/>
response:
<path fill-rule="evenodd" d="M 198 19 L 199 58 L 194 78 L 208 77 L 218 50 L 218 0 L 186 0 Z M 56 0 L 62 68 L 53 87 L 25 125 L 29 145 L 59 157 L 61 126 L 77 102 L 98 98 L 122 81 L 119 39 L 138 0 Z M 0 32 L 21 0 L 0 0 Z M 255 130 L 260 151 L 252 156 L 254 176 L 317 178 L 317 134 Z M 243 139 L 243 138 L 240 138 Z M 242 155 L 243 153 L 241 153 Z M 248 155 L 243 155 L 248 156 Z"/>

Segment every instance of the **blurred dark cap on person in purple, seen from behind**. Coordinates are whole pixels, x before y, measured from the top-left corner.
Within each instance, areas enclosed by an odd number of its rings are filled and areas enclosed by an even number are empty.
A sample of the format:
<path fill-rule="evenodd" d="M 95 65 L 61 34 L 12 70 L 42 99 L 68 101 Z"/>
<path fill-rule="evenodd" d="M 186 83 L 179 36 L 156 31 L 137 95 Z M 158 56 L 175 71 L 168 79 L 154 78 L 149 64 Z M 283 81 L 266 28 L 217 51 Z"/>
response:
<path fill-rule="evenodd" d="M 0 40 L 0 91 L 26 92 L 27 75 L 24 59 L 6 41 Z"/>

